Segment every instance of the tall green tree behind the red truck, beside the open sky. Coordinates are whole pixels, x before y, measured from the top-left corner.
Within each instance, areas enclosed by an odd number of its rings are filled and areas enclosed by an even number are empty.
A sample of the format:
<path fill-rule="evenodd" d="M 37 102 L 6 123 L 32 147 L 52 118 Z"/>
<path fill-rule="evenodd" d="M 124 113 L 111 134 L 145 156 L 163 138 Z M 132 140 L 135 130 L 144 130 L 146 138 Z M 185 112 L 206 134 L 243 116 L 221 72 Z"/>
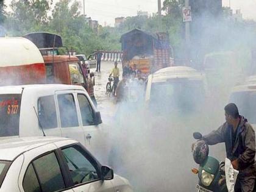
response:
<path fill-rule="evenodd" d="M 104 49 L 104 43 L 88 26 L 79 12 L 79 3 L 60 0 L 56 3 L 49 29 L 62 36 L 63 43 L 77 53 L 91 54 L 96 49 Z"/>

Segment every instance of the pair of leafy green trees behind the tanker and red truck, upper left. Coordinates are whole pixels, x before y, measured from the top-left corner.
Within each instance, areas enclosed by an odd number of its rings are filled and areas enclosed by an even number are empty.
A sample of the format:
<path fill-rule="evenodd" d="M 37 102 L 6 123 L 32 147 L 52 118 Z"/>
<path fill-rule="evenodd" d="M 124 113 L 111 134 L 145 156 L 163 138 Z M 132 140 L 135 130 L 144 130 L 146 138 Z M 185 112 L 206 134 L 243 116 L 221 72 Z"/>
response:
<path fill-rule="evenodd" d="M 9 35 L 22 36 L 30 32 L 46 31 L 62 36 L 63 44 L 79 54 L 91 54 L 95 49 L 104 49 L 101 38 L 94 34 L 80 15 L 79 3 L 60 0 L 50 12 L 52 0 L 12 1 L 12 13 L 5 27 Z"/>

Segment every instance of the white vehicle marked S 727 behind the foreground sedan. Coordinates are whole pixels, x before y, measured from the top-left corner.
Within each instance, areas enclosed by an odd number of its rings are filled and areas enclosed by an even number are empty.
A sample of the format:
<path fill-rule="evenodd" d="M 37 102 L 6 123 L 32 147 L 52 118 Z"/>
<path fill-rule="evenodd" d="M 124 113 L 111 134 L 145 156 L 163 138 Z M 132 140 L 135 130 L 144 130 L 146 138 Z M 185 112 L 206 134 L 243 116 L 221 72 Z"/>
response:
<path fill-rule="evenodd" d="M 58 136 L 84 144 L 101 161 L 107 131 L 82 86 L 0 87 L 0 137 Z M 104 155 L 106 157 L 106 155 Z"/>

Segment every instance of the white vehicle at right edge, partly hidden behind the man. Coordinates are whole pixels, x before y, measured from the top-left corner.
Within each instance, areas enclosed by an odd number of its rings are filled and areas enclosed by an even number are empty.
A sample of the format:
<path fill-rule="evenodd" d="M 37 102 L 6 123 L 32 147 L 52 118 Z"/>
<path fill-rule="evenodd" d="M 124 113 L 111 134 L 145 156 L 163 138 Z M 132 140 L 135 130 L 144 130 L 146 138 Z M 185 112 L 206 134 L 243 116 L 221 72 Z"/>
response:
<path fill-rule="evenodd" d="M 256 128 L 256 83 L 249 80 L 244 85 L 233 87 L 229 102 L 235 103 L 239 113 Z"/>

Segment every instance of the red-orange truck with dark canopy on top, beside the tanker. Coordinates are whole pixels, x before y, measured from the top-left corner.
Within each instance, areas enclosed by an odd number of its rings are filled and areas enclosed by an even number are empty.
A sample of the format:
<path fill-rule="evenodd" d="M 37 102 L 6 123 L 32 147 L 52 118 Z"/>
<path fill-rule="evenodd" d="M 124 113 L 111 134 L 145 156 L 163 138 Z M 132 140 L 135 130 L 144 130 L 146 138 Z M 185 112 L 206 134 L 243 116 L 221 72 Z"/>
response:
<path fill-rule="evenodd" d="M 86 87 L 86 74 L 80 60 L 70 55 L 68 48 L 63 46 L 62 38 L 56 34 L 34 32 L 24 35 L 40 50 L 46 68 L 48 84 L 82 85 Z M 65 55 L 60 52 L 66 51 Z M 85 69 L 86 70 L 86 69 Z"/>

